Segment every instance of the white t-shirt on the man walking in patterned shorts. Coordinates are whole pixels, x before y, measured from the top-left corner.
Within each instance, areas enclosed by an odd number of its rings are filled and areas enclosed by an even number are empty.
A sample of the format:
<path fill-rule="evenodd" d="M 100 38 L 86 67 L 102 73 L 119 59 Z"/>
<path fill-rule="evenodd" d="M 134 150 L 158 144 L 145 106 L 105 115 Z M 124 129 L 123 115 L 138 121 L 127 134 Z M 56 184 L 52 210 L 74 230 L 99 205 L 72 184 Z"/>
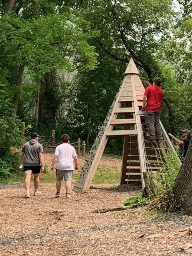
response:
<path fill-rule="evenodd" d="M 55 155 L 58 156 L 57 169 L 74 171 L 73 157 L 77 154 L 73 146 L 63 143 L 56 147 Z"/>

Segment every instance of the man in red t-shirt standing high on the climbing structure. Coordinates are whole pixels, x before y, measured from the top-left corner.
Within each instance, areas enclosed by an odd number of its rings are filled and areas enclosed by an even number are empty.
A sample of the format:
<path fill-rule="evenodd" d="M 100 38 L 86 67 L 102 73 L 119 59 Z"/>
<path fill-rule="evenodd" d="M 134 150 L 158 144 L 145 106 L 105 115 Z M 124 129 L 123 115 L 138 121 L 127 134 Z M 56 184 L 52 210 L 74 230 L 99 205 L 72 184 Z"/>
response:
<path fill-rule="evenodd" d="M 162 141 L 160 114 L 163 91 L 160 88 L 160 84 L 161 79 L 156 77 L 153 81 L 153 85 L 148 86 L 144 92 L 143 106 L 141 110 L 146 110 L 146 123 L 150 133 L 148 142 L 156 142 L 155 129 L 157 133 L 157 142 L 160 143 Z"/>

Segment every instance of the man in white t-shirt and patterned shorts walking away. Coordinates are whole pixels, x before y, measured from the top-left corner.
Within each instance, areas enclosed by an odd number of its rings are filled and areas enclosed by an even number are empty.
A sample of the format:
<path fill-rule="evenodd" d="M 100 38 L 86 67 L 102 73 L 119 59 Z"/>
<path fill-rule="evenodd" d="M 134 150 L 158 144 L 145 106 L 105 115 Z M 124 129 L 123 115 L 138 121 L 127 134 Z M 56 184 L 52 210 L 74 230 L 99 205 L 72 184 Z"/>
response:
<path fill-rule="evenodd" d="M 71 179 L 74 169 L 78 169 L 77 154 L 73 146 L 69 144 L 69 135 L 61 136 L 62 144 L 56 147 L 54 158 L 52 160 L 51 171 L 56 165 L 56 198 L 60 197 L 61 182 L 64 178 L 66 182 L 66 197 L 70 198 Z M 75 166 L 73 164 L 75 162 Z"/>

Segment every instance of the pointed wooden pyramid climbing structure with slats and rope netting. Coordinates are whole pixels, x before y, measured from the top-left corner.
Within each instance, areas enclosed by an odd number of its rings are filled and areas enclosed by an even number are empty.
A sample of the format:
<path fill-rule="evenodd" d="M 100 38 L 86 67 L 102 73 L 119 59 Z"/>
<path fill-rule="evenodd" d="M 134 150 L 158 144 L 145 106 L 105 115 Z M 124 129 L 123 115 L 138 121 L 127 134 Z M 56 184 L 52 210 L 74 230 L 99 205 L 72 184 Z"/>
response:
<path fill-rule="evenodd" d="M 162 124 L 163 142 L 147 142 L 149 136 L 145 111 L 141 111 L 145 89 L 132 58 L 124 74 L 124 80 L 74 185 L 75 192 L 89 190 L 110 136 L 124 137 L 120 184 L 139 182 L 144 189 L 143 173 L 162 168 L 167 149 L 175 152 Z M 123 129 L 116 130 L 117 126 Z"/>

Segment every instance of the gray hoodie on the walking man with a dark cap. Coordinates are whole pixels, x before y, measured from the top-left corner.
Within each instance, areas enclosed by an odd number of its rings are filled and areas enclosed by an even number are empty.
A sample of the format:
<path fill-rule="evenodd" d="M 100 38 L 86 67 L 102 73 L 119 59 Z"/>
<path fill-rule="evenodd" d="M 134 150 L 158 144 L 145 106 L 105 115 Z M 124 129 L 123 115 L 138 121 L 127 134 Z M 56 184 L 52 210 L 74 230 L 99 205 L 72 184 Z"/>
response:
<path fill-rule="evenodd" d="M 40 166 L 39 153 L 43 153 L 42 145 L 36 140 L 31 139 L 22 148 L 24 155 L 23 166 Z"/>

